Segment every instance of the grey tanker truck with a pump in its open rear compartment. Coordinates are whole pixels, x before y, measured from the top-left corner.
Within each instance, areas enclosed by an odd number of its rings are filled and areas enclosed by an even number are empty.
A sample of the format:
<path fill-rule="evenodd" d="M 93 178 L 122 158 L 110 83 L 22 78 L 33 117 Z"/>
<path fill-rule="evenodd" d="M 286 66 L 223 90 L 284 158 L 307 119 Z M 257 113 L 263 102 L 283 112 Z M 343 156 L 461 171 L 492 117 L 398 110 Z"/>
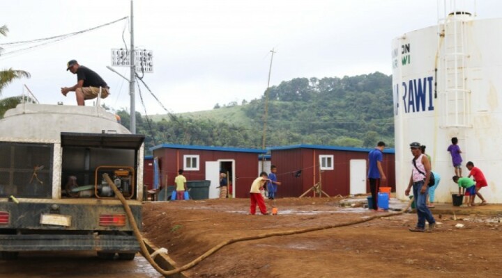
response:
<path fill-rule="evenodd" d="M 95 250 L 134 259 L 139 243 L 108 174 L 141 229 L 144 136 L 98 106 L 19 104 L 0 119 L 0 254 Z"/>

